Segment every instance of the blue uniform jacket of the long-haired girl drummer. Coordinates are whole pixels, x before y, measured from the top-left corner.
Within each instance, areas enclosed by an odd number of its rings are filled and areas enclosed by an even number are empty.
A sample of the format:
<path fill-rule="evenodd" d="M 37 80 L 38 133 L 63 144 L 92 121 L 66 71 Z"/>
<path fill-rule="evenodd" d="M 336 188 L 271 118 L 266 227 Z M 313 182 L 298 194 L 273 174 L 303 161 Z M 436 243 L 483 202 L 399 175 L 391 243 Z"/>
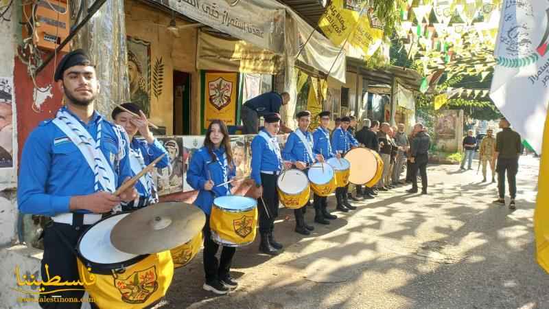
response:
<path fill-rule="evenodd" d="M 213 158 L 208 152 L 208 148 L 202 147 L 194 152 L 187 170 L 187 183 L 198 190 L 198 196 L 194 205 L 197 205 L 206 214 L 211 213 L 211 205 L 213 199 L 218 196 L 226 196 L 231 194 L 231 185 L 222 185 L 216 187 L 220 183 L 224 183 L 235 178 L 236 168 L 234 165 L 228 166 L 226 160 L 223 159 L 225 148 L 220 147 L 213 150 L 213 153 L 219 158 L 213 161 Z M 209 171 L 209 172 L 208 172 Z M 213 181 L 213 189 L 211 191 L 204 190 L 204 184 L 208 181 L 209 175 Z"/>

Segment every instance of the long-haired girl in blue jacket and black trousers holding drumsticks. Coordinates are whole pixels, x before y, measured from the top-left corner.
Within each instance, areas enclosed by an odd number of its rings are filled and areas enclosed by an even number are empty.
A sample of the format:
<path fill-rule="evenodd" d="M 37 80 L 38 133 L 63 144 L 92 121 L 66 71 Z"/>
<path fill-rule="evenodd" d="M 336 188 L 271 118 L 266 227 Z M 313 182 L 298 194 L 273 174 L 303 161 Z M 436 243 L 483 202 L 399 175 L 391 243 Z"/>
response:
<path fill-rule="evenodd" d="M 202 288 L 216 294 L 226 294 L 229 288 L 237 287 L 237 282 L 229 274 L 236 248 L 222 246 L 218 261 L 215 254 L 218 253 L 219 245 L 211 239 L 209 223 L 213 199 L 231 194 L 231 184 L 219 187 L 217 185 L 235 178 L 235 173 L 229 130 L 222 120 L 212 120 L 206 132 L 204 146 L 194 152 L 189 163 L 187 183 L 194 190 L 198 190 L 198 196 L 193 204 L 206 214 L 206 225 L 202 229 L 206 280 Z"/>

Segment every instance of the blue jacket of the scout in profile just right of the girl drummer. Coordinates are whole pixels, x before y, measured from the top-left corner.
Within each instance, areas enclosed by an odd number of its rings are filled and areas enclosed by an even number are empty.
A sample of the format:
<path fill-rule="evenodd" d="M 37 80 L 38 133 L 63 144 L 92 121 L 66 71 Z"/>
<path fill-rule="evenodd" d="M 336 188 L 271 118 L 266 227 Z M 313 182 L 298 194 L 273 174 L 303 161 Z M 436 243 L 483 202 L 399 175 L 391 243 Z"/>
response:
<path fill-rule="evenodd" d="M 267 131 L 264 130 L 267 135 L 272 137 Z M 251 163 L 251 176 L 255 183 L 261 185 L 261 171 L 276 172 L 282 170 L 281 154 L 275 152 L 276 150 L 270 149 L 267 141 L 257 135 L 252 140 L 252 163 Z"/>

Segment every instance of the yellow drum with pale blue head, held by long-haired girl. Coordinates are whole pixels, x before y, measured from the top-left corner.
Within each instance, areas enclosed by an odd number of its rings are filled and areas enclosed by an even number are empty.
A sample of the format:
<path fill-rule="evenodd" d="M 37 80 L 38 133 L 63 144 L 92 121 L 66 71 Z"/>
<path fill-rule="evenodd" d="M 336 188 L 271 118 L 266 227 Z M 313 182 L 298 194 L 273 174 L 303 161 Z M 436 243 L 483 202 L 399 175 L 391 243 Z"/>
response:
<path fill-rule="evenodd" d="M 226 247 L 242 247 L 255 240 L 257 202 L 246 196 L 220 196 L 210 214 L 211 239 Z"/>

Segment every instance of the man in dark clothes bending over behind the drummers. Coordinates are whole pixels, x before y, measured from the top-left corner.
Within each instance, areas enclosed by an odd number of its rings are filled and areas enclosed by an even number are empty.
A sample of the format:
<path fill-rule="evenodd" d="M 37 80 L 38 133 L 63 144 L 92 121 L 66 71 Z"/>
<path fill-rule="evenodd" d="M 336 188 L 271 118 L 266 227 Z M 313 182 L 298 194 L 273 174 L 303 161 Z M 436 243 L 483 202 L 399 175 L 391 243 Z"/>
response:
<path fill-rule="evenodd" d="M 259 117 L 269 113 L 280 113 L 281 106 L 290 102 L 290 94 L 287 92 L 277 93 L 274 91 L 263 93 L 255 98 L 251 98 L 242 104 L 240 110 L 240 117 L 242 117 L 242 124 L 244 129 L 242 134 L 257 134 L 259 130 Z M 281 131 L 283 133 L 290 133 L 292 130 L 280 124 Z"/>

